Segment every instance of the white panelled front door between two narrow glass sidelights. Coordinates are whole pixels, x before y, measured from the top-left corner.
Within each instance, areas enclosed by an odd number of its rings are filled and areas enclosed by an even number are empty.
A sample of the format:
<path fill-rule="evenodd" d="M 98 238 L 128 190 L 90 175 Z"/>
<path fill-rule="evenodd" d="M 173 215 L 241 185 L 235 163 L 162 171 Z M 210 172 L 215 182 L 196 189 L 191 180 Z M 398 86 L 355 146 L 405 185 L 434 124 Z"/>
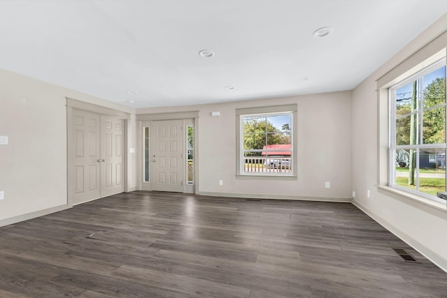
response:
<path fill-rule="evenodd" d="M 183 192 L 182 120 L 152 121 L 150 161 L 153 191 Z"/>

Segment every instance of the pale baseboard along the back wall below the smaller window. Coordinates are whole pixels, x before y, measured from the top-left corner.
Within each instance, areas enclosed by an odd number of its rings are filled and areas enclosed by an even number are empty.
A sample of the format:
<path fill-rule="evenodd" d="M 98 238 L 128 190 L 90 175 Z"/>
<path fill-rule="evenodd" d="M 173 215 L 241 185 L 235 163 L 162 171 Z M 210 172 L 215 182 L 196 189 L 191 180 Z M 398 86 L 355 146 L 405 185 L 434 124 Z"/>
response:
<path fill-rule="evenodd" d="M 351 198 L 327 198 L 300 195 L 267 195 L 261 193 L 214 193 L 200 191 L 198 195 L 208 195 L 210 197 L 225 198 L 249 198 L 249 199 L 270 199 L 270 200 L 299 200 L 299 201 L 321 201 L 321 202 L 351 202 Z"/>

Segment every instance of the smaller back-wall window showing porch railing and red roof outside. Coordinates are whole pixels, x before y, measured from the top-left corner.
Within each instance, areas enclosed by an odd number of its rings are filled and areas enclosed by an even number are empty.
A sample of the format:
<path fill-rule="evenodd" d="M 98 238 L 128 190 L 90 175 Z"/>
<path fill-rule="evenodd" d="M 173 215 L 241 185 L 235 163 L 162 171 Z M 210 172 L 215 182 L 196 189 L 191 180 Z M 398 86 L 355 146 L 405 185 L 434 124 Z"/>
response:
<path fill-rule="evenodd" d="M 281 106 L 240 111 L 238 174 L 293 176 L 295 110 Z"/>

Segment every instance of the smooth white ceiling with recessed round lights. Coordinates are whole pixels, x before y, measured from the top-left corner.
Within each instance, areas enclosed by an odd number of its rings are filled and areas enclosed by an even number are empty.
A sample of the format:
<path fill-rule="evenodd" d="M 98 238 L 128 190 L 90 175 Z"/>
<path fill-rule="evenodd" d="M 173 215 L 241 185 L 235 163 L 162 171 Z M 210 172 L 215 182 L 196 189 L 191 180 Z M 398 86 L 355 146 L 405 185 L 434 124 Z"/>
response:
<path fill-rule="evenodd" d="M 0 68 L 135 108 L 339 91 L 446 12 L 446 0 L 0 0 Z"/>

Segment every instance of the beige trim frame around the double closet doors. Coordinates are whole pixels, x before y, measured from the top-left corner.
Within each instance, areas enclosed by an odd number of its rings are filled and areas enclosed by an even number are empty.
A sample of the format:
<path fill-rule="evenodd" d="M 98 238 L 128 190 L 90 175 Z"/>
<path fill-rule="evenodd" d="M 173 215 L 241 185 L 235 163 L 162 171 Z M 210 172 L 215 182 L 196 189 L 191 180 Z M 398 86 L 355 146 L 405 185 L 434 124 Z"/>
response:
<path fill-rule="evenodd" d="M 66 107 L 67 107 L 67 207 L 73 207 L 72 193 L 74 189 L 73 182 L 75 177 L 73 171 L 71 170 L 75 163 L 75 148 L 73 146 L 73 110 L 83 110 L 86 112 L 91 112 L 94 114 L 103 114 L 112 117 L 117 117 L 124 120 L 124 192 L 129 192 L 129 178 L 128 178 L 128 165 L 129 165 L 129 121 L 131 119 L 131 114 L 127 112 L 122 112 L 119 110 L 114 110 L 109 107 L 103 107 L 101 105 L 94 105 L 93 103 L 86 103 L 85 101 L 76 100 L 73 98 L 66 97 Z M 94 199 L 96 200 L 96 199 Z"/>

